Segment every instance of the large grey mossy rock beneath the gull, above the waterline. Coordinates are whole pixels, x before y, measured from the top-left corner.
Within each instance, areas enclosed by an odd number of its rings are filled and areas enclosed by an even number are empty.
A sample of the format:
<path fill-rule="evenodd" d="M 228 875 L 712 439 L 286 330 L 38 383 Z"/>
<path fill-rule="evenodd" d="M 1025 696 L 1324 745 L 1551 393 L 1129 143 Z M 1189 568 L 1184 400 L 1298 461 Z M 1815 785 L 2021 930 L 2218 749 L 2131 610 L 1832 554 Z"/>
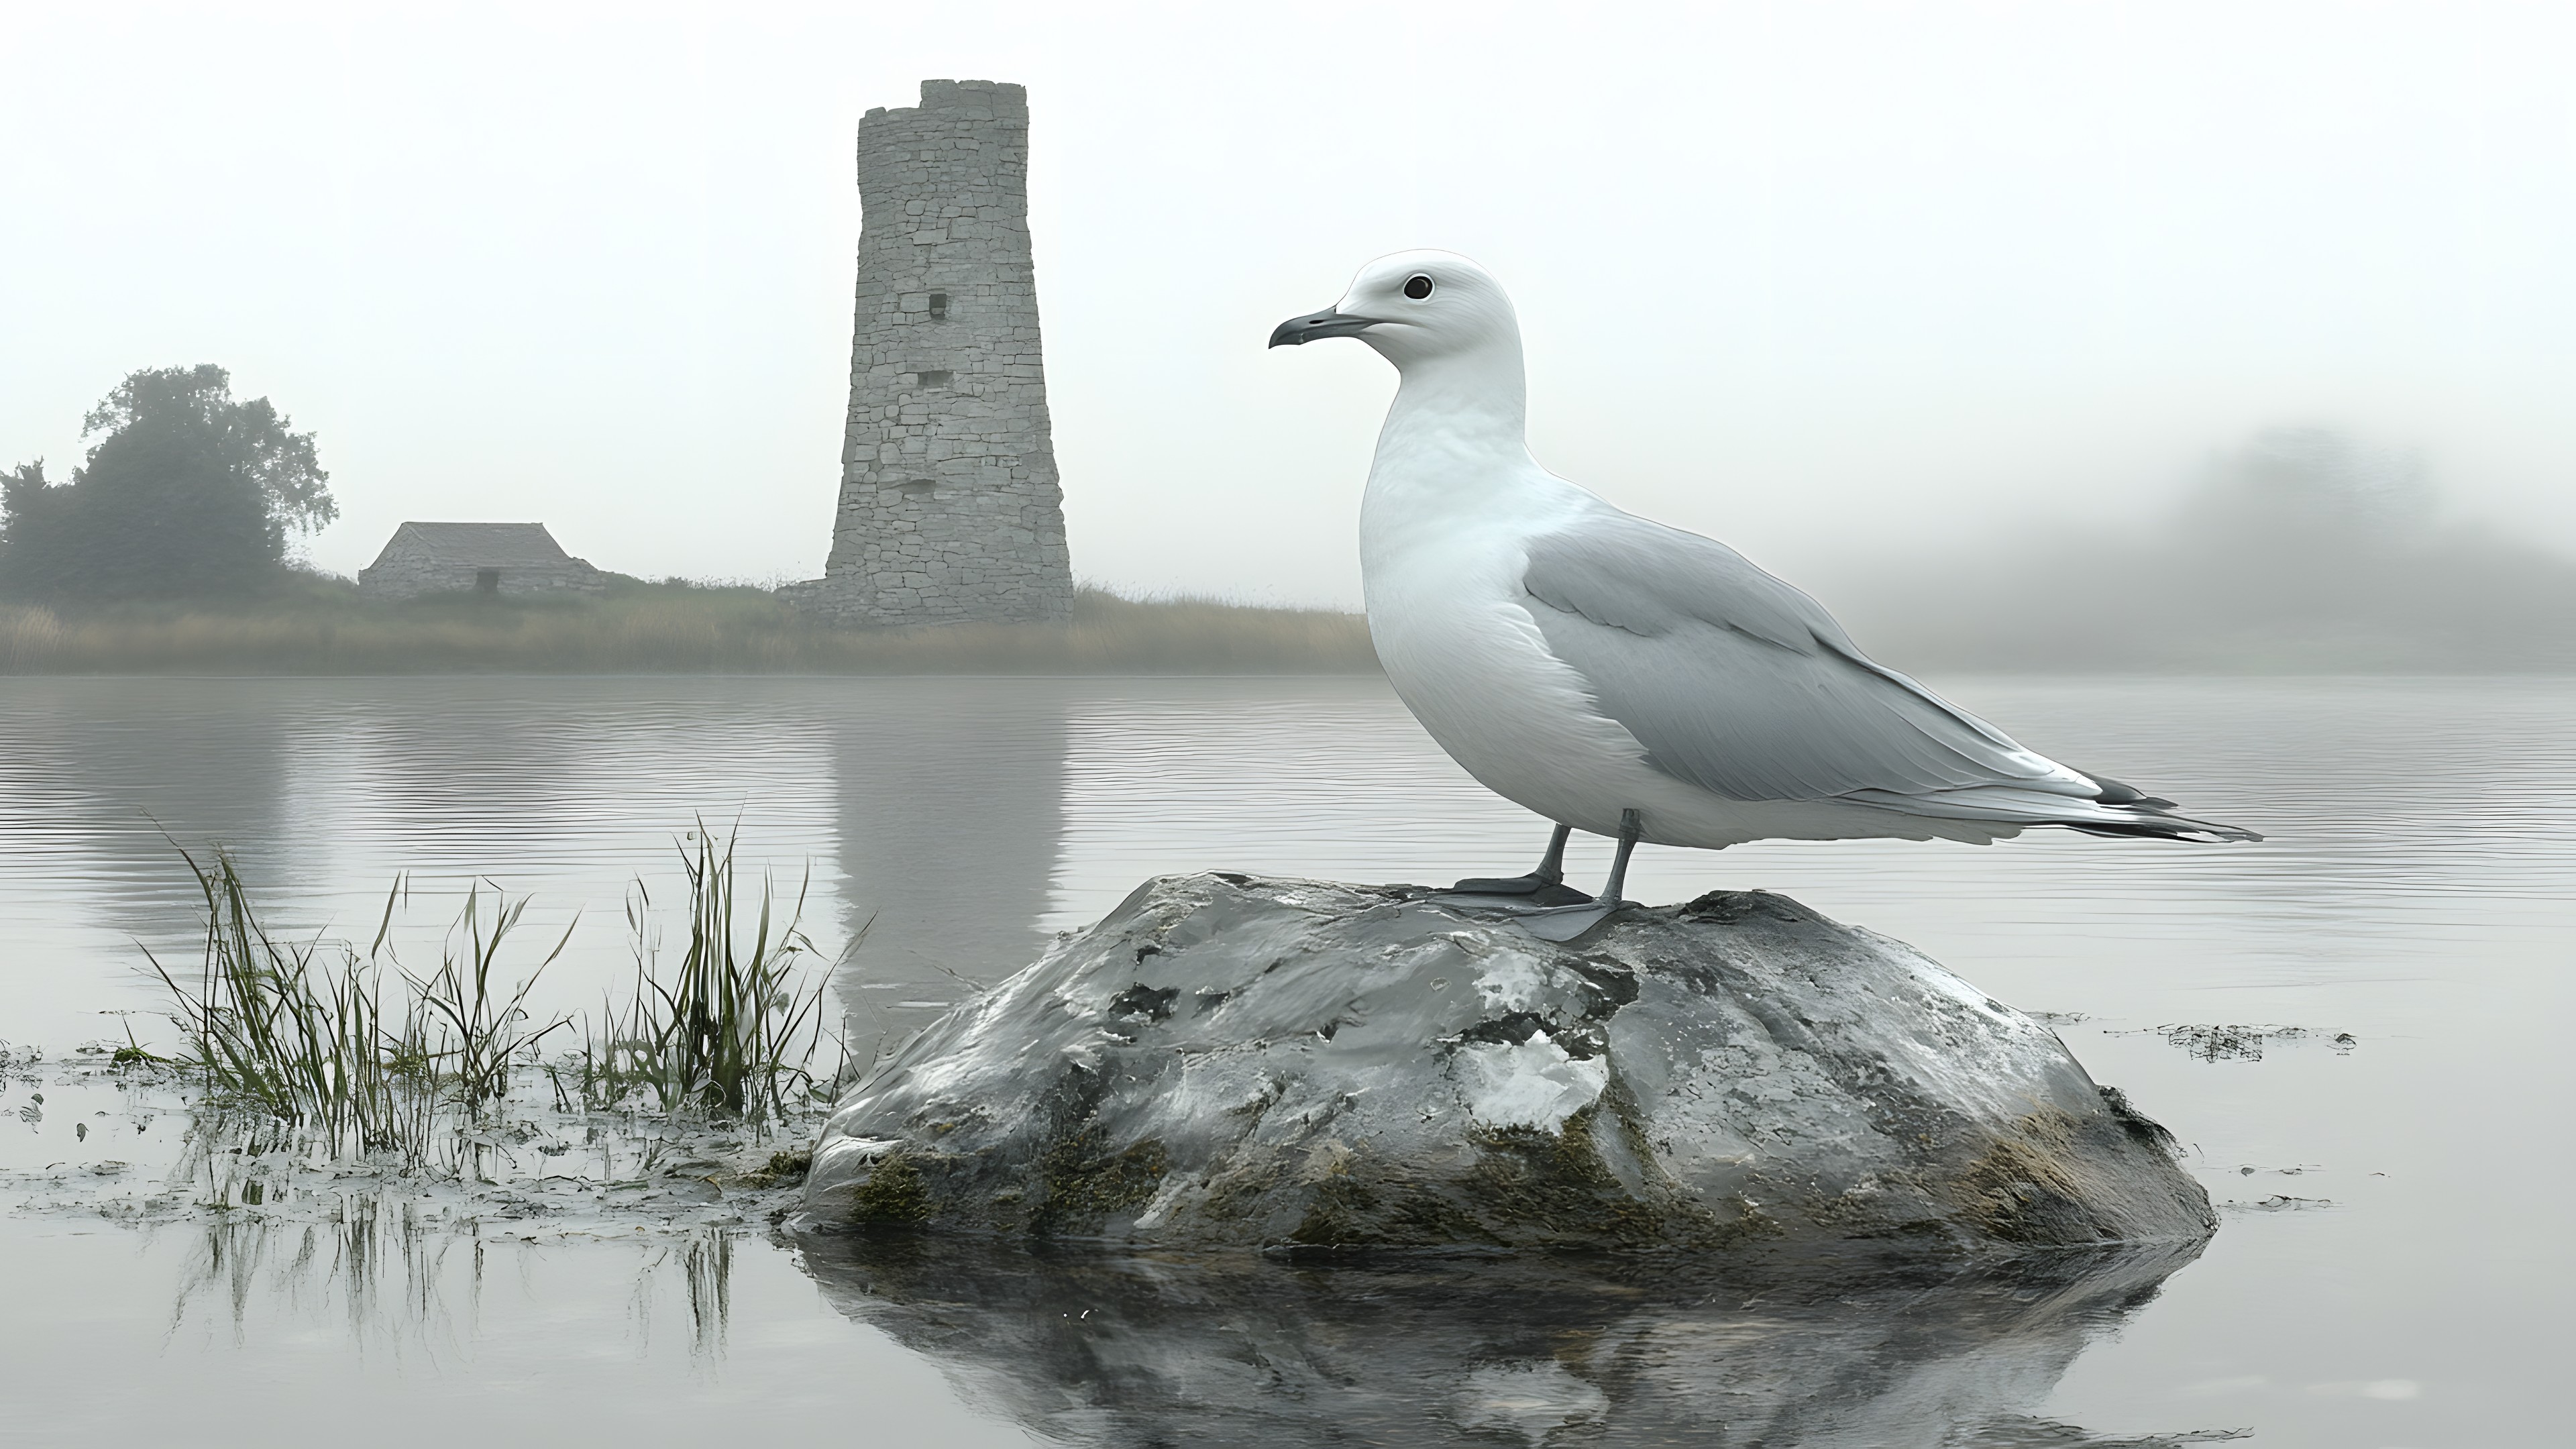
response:
<path fill-rule="evenodd" d="M 2200 1240 L 2053 1031 L 1793 900 L 1574 944 L 1412 887 L 1146 882 L 832 1114 L 809 1222 L 1177 1248 Z"/>

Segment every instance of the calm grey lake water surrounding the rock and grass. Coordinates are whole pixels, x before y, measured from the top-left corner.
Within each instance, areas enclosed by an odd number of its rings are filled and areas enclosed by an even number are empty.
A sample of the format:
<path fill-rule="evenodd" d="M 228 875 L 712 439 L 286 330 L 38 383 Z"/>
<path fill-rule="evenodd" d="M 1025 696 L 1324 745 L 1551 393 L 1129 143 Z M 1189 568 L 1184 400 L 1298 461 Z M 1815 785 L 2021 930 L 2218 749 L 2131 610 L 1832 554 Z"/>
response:
<path fill-rule="evenodd" d="M 2576 681 L 1945 686 L 2269 838 L 1646 848 L 1631 892 L 1783 890 L 2061 1013 L 2231 1204 L 2195 1261 L 1682 1294 L 15 1214 L 0 1441 L 2563 1441 Z M 193 949 L 173 841 L 361 944 L 404 877 L 397 944 L 430 959 L 469 884 L 526 892 L 531 964 L 569 928 L 538 1003 L 580 1008 L 698 820 L 804 882 L 827 951 L 866 928 L 835 977 L 860 1055 L 1149 874 L 1437 882 L 1546 835 L 1378 681 L 0 678 L 0 1039 L 170 1039 L 100 1013 L 157 1003 L 142 946 Z M 0 1140 L 100 1150 L 59 1111 Z"/>

